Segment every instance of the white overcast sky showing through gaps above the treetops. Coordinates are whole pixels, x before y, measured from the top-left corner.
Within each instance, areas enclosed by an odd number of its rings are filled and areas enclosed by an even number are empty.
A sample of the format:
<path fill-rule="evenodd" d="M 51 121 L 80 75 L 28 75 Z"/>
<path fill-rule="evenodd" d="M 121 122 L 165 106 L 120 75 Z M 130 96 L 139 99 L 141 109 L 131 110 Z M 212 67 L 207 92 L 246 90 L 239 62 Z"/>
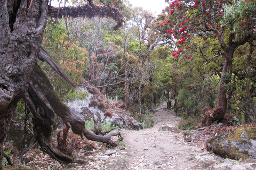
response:
<path fill-rule="evenodd" d="M 151 11 L 152 13 L 160 14 L 165 6 L 164 0 L 129 0 L 132 6 L 141 6 L 144 10 Z M 57 0 L 52 2 L 53 6 L 59 6 Z M 68 6 L 69 4 L 67 4 Z"/>

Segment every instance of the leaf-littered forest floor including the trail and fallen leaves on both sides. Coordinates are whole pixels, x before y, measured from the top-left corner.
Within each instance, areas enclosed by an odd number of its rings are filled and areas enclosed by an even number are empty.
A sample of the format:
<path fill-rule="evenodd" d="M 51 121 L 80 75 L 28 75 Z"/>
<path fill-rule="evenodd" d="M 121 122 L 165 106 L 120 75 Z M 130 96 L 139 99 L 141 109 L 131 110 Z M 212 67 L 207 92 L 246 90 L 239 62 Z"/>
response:
<path fill-rule="evenodd" d="M 96 149 L 85 152 L 83 149 L 73 155 L 86 157 L 87 164 L 60 165 L 39 149 L 31 150 L 26 164 L 35 169 L 226 169 L 238 161 L 223 159 L 206 151 L 206 140 L 213 137 L 218 125 L 193 133 L 193 140 L 184 140 L 182 131 L 164 131 L 163 124 L 176 126 L 180 117 L 162 104 L 154 113 L 156 124 L 153 128 L 120 130 L 123 141 L 115 148 L 102 147 L 98 142 Z M 118 141 L 117 137 L 113 140 Z M 110 151 L 110 153 L 107 153 Z M 30 156 L 29 156 L 30 155 Z M 31 158 L 33 157 L 33 159 Z M 32 160 L 31 160 L 32 159 Z M 222 165 L 225 168 L 222 168 Z M 239 164 L 238 164 L 239 165 Z M 232 169 L 232 168 L 231 168 Z"/>

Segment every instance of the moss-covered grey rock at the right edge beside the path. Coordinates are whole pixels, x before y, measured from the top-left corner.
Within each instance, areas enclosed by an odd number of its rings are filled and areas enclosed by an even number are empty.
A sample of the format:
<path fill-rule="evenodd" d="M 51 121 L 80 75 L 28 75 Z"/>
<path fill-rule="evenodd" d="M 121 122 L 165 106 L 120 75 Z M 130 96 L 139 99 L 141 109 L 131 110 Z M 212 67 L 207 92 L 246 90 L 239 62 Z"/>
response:
<path fill-rule="evenodd" d="M 256 128 L 243 127 L 207 140 L 207 151 L 223 158 L 256 159 Z"/>

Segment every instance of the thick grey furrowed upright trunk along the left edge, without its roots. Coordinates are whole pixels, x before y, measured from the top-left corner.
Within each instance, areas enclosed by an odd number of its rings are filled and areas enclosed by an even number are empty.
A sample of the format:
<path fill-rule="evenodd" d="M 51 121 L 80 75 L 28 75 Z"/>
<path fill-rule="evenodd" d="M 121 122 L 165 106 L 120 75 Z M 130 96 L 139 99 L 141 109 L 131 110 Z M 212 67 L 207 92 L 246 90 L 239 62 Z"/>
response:
<path fill-rule="evenodd" d="M 0 147 L 13 111 L 27 91 L 46 23 L 47 0 L 0 2 Z M 0 169 L 2 169 L 0 149 Z"/>

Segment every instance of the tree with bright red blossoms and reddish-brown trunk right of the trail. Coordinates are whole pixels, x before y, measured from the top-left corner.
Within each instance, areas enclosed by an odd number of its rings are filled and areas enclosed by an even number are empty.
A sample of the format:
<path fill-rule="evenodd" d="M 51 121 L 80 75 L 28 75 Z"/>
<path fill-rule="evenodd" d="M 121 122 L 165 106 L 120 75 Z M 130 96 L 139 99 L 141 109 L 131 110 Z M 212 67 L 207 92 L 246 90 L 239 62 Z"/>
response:
<path fill-rule="evenodd" d="M 169 2 L 169 1 L 166 1 Z M 167 12 L 166 23 L 159 23 L 176 47 L 174 58 L 191 58 L 195 49 L 213 48 L 215 56 L 225 60 L 218 90 L 218 106 L 214 109 L 212 122 L 222 120 L 227 109 L 227 88 L 232 73 L 235 50 L 245 43 L 255 44 L 256 5 L 253 1 L 172 1 Z M 204 40 L 202 46 L 195 39 Z M 203 53 L 203 52 L 202 52 Z M 202 54 L 203 55 L 203 54 Z M 207 63 L 209 63 L 207 62 Z"/>

